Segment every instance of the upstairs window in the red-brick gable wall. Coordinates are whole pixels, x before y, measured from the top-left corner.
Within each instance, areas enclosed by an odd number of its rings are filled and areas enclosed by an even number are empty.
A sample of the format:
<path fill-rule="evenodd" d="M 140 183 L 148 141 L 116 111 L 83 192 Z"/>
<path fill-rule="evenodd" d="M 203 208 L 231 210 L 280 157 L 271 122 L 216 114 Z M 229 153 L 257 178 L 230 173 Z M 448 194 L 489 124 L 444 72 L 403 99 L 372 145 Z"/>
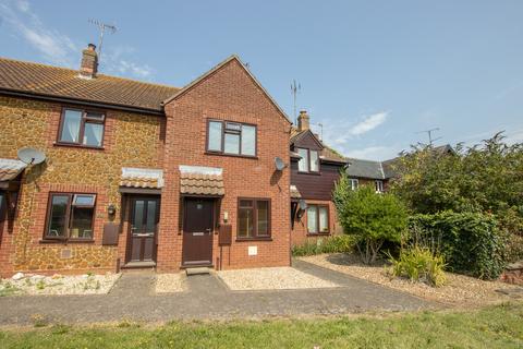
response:
<path fill-rule="evenodd" d="M 246 123 L 209 120 L 207 152 L 256 156 L 256 127 Z"/>

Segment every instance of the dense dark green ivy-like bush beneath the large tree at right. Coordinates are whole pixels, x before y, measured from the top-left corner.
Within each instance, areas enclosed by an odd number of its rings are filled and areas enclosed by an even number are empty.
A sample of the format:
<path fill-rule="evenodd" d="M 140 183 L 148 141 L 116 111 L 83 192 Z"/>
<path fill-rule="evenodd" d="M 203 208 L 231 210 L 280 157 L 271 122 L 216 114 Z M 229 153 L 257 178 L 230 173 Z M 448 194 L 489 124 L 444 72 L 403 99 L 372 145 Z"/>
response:
<path fill-rule="evenodd" d="M 483 279 L 499 277 L 504 267 L 504 242 L 492 215 L 441 212 L 410 217 L 413 244 L 442 255 L 449 269 Z"/>

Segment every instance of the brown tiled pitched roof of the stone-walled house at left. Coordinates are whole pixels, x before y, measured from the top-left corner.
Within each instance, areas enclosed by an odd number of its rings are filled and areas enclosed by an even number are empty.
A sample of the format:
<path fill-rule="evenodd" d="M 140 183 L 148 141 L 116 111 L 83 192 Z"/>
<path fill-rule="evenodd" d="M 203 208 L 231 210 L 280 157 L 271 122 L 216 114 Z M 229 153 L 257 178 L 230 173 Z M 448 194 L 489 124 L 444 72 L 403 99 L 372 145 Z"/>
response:
<path fill-rule="evenodd" d="M 77 70 L 0 58 L 0 91 L 159 112 L 180 88 L 105 74 L 85 79 Z"/>

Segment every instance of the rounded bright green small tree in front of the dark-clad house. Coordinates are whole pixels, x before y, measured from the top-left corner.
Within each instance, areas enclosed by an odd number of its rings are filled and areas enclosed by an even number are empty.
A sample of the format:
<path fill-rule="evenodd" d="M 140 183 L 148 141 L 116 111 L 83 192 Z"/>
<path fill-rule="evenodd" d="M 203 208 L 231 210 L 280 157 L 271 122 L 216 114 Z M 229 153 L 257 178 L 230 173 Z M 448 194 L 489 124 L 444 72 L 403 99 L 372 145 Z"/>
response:
<path fill-rule="evenodd" d="M 408 214 L 393 194 L 378 194 L 370 185 L 352 191 L 348 176 L 341 173 L 333 201 L 343 231 L 355 236 L 365 264 L 376 261 L 385 241 L 401 242 Z"/>

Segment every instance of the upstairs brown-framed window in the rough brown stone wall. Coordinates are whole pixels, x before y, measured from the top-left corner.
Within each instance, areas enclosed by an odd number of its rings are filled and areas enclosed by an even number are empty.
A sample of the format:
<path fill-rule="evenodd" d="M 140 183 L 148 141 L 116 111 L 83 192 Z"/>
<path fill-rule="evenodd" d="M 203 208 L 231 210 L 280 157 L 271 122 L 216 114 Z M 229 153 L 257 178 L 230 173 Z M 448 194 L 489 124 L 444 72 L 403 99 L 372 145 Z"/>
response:
<path fill-rule="evenodd" d="M 63 109 L 59 142 L 101 147 L 105 115 L 80 109 Z"/>

